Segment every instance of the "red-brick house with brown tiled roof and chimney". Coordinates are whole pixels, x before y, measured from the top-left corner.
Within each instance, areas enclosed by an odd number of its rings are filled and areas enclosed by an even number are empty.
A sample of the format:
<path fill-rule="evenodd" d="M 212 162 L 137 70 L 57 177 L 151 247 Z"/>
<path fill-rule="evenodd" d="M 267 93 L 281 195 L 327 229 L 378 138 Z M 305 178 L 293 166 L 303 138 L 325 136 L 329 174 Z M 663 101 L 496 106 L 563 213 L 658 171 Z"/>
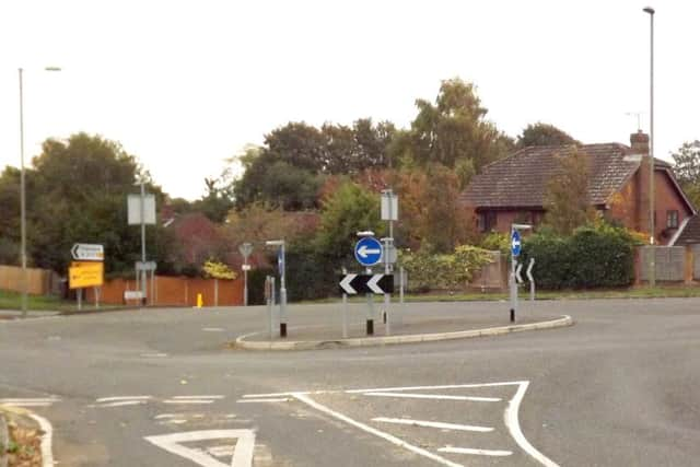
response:
<path fill-rule="evenodd" d="M 460 201 L 475 213 L 481 232 L 510 232 L 512 223 L 539 224 L 547 184 L 560 171 L 557 156 L 588 157 L 588 203 L 606 218 L 649 234 L 649 136 L 632 133 L 631 147 L 619 143 L 524 148 L 483 167 Z M 696 214 L 672 166 L 654 160 L 654 238 L 668 244 Z"/>

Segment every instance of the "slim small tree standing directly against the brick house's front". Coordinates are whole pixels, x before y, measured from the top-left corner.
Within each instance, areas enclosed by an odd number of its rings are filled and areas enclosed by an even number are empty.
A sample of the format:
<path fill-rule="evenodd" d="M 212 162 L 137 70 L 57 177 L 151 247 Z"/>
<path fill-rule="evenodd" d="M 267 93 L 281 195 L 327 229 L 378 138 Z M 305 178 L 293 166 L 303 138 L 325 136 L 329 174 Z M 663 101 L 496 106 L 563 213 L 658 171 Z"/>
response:
<path fill-rule="evenodd" d="M 595 219 L 595 210 L 588 203 L 588 161 L 573 151 L 557 155 L 560 171 L 547 184 L 544 223 L 560 235 L 573 231 Z"/>

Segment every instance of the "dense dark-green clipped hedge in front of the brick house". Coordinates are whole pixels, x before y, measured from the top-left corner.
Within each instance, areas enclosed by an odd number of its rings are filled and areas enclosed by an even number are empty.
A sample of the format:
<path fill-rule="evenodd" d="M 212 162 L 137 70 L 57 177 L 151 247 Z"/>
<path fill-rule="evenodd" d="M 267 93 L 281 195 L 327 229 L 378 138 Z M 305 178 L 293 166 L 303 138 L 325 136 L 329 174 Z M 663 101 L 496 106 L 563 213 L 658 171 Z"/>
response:
<path fill-rule="evenodd" d="M 542 289 L 629 287 L 635 244 L 627 230 L 608 224 L 580 227 L 571 236 L 545 231 L 524 240 L 521 261 L 535 258 L 533 276 Z"/>

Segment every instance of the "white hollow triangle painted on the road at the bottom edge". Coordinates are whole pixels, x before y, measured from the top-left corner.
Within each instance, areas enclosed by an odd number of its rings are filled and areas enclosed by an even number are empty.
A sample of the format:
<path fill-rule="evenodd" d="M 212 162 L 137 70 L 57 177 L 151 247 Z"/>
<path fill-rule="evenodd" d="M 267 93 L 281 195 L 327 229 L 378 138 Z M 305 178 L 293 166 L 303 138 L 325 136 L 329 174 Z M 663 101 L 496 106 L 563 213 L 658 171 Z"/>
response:
<path fill-rule="evenodd" d="M 185 457 L 202 467 L 250 467 L 255 448 L 255 431 L 253 430 L 206 430 L 183 433 L 145 436 L 145 441 Z M 183 443 L 198 443 L 215 440 L 217 444 L 207 448 L 189 447 Z M 236 440 L 233 444 L 222 445 L 223 440 Z M 215 457 L 233 456 L 230 463 L 222 463 Z"/>

